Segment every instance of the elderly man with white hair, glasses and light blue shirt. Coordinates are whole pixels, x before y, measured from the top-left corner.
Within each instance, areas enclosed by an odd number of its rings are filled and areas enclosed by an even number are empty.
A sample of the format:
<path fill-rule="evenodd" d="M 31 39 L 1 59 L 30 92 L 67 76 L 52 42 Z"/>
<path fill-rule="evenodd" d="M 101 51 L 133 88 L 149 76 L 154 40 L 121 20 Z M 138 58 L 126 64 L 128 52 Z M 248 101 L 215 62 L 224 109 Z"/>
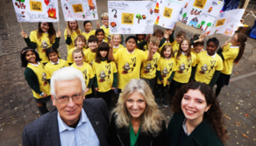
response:
<path fill-rule="evenodd" d="M 84 100 L 82 73 L 65 67 L 53 73 L 51 97 L 56 106 L 23 131 L 27 146 L 107 146 L 108 108 L 102 98 Z"/>

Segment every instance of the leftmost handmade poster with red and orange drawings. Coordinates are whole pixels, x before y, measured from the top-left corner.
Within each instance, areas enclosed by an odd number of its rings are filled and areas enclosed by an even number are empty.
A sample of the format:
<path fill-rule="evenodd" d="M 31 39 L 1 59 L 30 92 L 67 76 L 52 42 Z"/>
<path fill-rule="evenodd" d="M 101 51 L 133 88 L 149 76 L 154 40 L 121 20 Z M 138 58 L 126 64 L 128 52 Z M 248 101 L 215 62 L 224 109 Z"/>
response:
<path fill-rule="evenodd" d="M 18 22 L 59 22 L 57 0 L 12 0 Z"/>

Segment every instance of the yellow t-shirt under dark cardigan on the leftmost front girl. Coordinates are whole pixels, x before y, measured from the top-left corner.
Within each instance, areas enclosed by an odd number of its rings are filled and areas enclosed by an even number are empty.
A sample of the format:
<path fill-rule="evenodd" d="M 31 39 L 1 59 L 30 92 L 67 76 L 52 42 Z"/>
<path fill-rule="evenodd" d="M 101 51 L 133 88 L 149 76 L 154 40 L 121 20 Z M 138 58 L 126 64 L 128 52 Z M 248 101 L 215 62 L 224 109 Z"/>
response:
<path fill-rule="evenodd" d="M 26 67 L 31 68 L 32 71 L 37 75 L 39 80 L 40 91 L 47 95 L 50 95 L 50 85 L 48 83 L 48 80 L 46 79 L 46 71 L 43 64 L 40 63 L 39 66 L 32 66 L 32 64 L 28 63 Z M 36 99 L 42 98 L 39 94 L 37 94 L 33 90 L 32 90 L 32 93 Z"/>

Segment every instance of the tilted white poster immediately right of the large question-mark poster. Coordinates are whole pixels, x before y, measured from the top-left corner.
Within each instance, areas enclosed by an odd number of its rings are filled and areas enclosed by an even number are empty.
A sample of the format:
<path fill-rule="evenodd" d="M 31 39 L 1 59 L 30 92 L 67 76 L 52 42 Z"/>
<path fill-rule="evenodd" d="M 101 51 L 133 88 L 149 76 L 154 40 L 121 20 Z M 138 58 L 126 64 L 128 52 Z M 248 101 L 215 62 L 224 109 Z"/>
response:
<path fill-rule="evenodd" d="M 150 11 L 155 15 L 154 24 L 173 29 L 180 17 L 181 7 L 187 0 L 153 0 Z"/>

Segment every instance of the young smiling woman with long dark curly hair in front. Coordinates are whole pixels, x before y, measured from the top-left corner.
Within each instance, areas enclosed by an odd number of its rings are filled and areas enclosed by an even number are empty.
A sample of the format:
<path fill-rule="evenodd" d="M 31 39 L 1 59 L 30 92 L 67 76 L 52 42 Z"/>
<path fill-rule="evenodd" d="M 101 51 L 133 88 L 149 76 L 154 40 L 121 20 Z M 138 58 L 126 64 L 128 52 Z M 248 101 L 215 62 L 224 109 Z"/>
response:
<path fill-rule="evenodd" d="M 210 86 L 190 82 L 181 87 L 172 103 L 174 116 L 168 124 L 167 145 L 226 145 L 223 112 Z"/>

